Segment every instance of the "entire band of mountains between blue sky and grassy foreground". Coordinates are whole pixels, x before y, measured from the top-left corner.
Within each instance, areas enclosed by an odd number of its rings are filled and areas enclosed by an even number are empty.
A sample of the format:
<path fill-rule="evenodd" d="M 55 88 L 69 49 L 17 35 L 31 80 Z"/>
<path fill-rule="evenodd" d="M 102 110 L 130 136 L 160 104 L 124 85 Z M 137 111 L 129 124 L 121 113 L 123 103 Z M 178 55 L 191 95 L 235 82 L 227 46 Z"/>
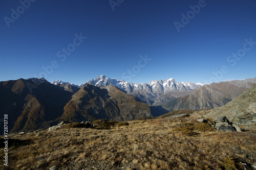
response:
<path fill-rule="evenodd" d="M 18 79 L 0 82 L 0 111 L 8 115 L 9 131 L 13 133 L 45 129 L 62 121 L 120 122 L 174 110 L 221 107 L 254 83 L 256 78 L 210 85 L 175 79 L 139 84 L 106 76 L 80 85 L 61 80 L 50 83 L 44 78 Z"/>

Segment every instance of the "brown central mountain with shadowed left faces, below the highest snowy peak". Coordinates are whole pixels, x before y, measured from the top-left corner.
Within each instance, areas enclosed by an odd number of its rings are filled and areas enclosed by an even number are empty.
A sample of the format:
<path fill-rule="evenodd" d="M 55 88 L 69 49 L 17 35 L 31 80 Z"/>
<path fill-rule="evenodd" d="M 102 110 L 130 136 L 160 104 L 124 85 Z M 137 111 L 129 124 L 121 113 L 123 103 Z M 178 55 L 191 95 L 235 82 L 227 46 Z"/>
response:
<path fill-rule="evenodd" d="M 87 84 L 72 95 L 59 120 L 81 122 L 106 118 L 123 121 L 142 116 L 153 115 L 148 105 L 136 101 L 133 96 L 113 85 L 100 88 Z"/>

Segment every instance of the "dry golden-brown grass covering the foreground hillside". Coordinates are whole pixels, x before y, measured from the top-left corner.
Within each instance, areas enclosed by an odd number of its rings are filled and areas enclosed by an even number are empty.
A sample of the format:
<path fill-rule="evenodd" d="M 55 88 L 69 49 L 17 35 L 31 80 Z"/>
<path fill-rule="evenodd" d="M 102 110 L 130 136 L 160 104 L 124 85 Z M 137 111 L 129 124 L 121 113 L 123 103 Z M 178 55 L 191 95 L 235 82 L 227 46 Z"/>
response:
<path fill-rule="evenodd" d="M 126 124 L 125 124 L 126 125 Z M 188 136 L 179 128 L 190 128 Z M 12 138 L 9 169 L 252 169 L 255 132 L 209 132 L 191 118 L 148 119 L 110 129 L 63 128 Z M 3 155 L 3 150 L 0 151 Z M 4 166 L 1 165 L 1 168 Z"/>

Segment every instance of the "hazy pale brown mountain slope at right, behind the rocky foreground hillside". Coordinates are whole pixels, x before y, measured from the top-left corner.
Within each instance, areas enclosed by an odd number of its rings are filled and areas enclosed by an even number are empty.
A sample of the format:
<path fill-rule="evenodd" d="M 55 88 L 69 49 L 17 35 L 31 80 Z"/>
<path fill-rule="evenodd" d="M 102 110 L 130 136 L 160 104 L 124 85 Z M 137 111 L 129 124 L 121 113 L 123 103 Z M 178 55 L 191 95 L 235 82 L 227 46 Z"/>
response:
<path fill-rule="evenodd" d="M 167 110 L 200 110 L 224 106 L 243 91 L 253 87 L 256 78 L 204 85 L 191 94 L 171 100 L 163 107 Z"/>

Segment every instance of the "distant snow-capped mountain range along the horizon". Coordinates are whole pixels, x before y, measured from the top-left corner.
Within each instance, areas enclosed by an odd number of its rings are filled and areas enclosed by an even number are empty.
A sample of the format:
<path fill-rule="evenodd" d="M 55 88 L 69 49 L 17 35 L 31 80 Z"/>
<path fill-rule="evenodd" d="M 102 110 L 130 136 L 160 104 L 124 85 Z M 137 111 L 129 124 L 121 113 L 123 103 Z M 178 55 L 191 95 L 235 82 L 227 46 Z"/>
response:
<path fill-rule="evenodd" d="M 105 87 L 108 85 L 114 85 L 121 90 L 125 91 L 128 94 L 131 94 L 135 96 L 137 99 L 144 103 L 153 104 L 157 97 L 163 94 L 172 95 L 172 92 L 175 91 L 189 91 L 189 90 L 195 90 L 199 87 L 203 86 L 204 84 L 201 83 L 191 83 L 191 82 L 176 82 L 175 79 L 167 79 L 167 80 L 154 80 L 150 83 L 130 83 L 125 82 L 124 80 L 117 80 L 117 79 L 111 79 L 104 75 L 101 75 L 97 77 L 96 79 L 90 80 L 86 83 L 80 84 L 80 85 L 74 85 L 72 86 L 76 87 L 83 87 L 87 84 L 93 84 L 97 87 Z M 61 80 L 56 80 L 53 82 L 54 85 L 58 84 L 69 84 L 69 82 L 63 82 Z M 173 96 L 173 95 L 172 95 Z"/>

